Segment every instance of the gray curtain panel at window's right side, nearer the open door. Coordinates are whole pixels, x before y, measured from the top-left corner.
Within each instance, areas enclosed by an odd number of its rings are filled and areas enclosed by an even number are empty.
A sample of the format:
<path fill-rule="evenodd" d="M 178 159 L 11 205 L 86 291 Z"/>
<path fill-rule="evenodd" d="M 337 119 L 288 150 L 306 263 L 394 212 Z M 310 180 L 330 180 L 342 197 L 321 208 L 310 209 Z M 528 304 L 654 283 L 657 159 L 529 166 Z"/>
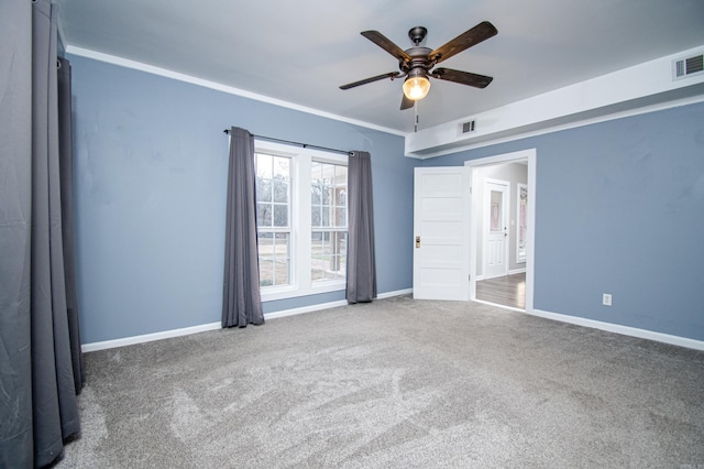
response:
<path fill-rule="evenodd" d="M 376 298 L 372 159 L 353 152 L 348 163 L 348 285 L 349 304 Z"/>

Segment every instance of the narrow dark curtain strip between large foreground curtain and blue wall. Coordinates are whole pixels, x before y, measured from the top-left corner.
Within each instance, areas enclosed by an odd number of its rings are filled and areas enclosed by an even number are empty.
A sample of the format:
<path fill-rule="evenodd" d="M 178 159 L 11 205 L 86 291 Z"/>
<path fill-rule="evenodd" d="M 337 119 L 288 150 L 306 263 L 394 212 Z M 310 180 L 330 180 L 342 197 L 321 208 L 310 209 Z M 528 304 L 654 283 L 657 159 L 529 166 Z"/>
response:
<path fill-rule="evenodd" d="M 80 351 L 78 298 L 76 294 L 76 251 L 74 248 L 74 140 L 72 132 L 70 63 L 58 58 L 58 162 L 62 192 L 62 236 L 64 239 L 64 272 L 66 309 L 74 385 L 80 393 L 84 385 L 84 356 Z"/>

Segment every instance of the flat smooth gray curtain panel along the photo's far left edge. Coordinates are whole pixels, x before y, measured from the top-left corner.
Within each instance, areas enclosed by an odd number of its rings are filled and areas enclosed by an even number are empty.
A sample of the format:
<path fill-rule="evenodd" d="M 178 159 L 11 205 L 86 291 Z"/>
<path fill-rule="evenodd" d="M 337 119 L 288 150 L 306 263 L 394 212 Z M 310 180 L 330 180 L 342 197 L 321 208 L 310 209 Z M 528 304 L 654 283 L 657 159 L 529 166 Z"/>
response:
<path fill-rule="evenodd" d="M 0 1 L 0 467 L 30 468 L 32 3 Z"/>

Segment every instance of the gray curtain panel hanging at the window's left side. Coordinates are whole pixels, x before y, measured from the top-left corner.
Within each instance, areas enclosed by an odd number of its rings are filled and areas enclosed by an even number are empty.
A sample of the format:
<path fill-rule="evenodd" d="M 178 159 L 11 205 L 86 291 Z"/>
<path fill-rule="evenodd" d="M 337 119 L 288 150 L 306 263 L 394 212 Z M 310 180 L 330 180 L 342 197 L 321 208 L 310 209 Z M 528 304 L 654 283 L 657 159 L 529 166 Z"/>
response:
<path fill-rule="evenodd" d="M 256 238 L 254 138 L 230 131 L 222 327 L 264 324 Z"/>

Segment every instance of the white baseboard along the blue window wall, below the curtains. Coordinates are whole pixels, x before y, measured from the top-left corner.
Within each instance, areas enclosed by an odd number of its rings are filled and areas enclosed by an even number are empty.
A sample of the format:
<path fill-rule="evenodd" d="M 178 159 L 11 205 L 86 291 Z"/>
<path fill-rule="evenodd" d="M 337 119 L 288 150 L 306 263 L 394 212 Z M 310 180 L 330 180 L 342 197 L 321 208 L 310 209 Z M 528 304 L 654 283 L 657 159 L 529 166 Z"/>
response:
<path fill-rule="evenodd" d="M 386 292 L 386 293 L 382 293 L 380 295 L 377 295 L 377 299 L 383 299 L 383 298 L 391 298 L 393 296 L 400 296 L 400 295 L 407 295 L 413 293 L 413 288 L 407 288 L 407 290 L 397 290 L 396 292 Z M 311 312 L 317 312 L 317 310 L 321 310 L 321 309 L 330 309 L 330 308 L 337 308 L 340 306 L 345 306 L 348 304 L 346 301 L 342 299 L 339 302 L 330 302 L 330 303 L 322 303 L 322 304 L 318 304 L 318 305 L 310 305 L 310 306 L 304 306 L 300 308 L 293 308 L 293 309 L 285 309 L 285 310 L 280 310 L 280 312 L 274 312 L 274 313 L 267 313 L 264 315 L 265 319 L 276 319 L 279 317 L 286 317 L 286 316 L 294 316 L 297 314 L 304 314 L 304 313 L 311 313 Z M 207 330 L 217 330 L 220 329 L 222 327 L 221 323 L 210 323 L 210 324 L 201 324 L 200 326 L 193 326 L 193 327 L 184 327 L 180 329 L 172 329 L 172 330 L 164 330 L 162 332 L 154 332 L 154 334 L 144 334 L 141 336 L 132 336 L 132 337 L 125 337 L 122 339 L 113 339 L 113 340 L 103 340 L 100 342 L 91 342 L 91 343 L 84 343 L 80 346 L 80 350 L 86 353 L 86 352 L 91 352 L 91 351 L 97 351 L 97 350 L 105 350 L 105 349 L 113 349 L 113 348 L 118 348 L 118 347 L 125 347 L 125 346 L 133 346 L 135 343 L 144 343 L 144 342 L 151 342 L 154 340 L 162 340 L 162 339 L 168 339 L 172 337 L 180 337 L 180 336 L 188 336 L 190 334 L 198 334 L 198 332 L 205 332 Z"/>

